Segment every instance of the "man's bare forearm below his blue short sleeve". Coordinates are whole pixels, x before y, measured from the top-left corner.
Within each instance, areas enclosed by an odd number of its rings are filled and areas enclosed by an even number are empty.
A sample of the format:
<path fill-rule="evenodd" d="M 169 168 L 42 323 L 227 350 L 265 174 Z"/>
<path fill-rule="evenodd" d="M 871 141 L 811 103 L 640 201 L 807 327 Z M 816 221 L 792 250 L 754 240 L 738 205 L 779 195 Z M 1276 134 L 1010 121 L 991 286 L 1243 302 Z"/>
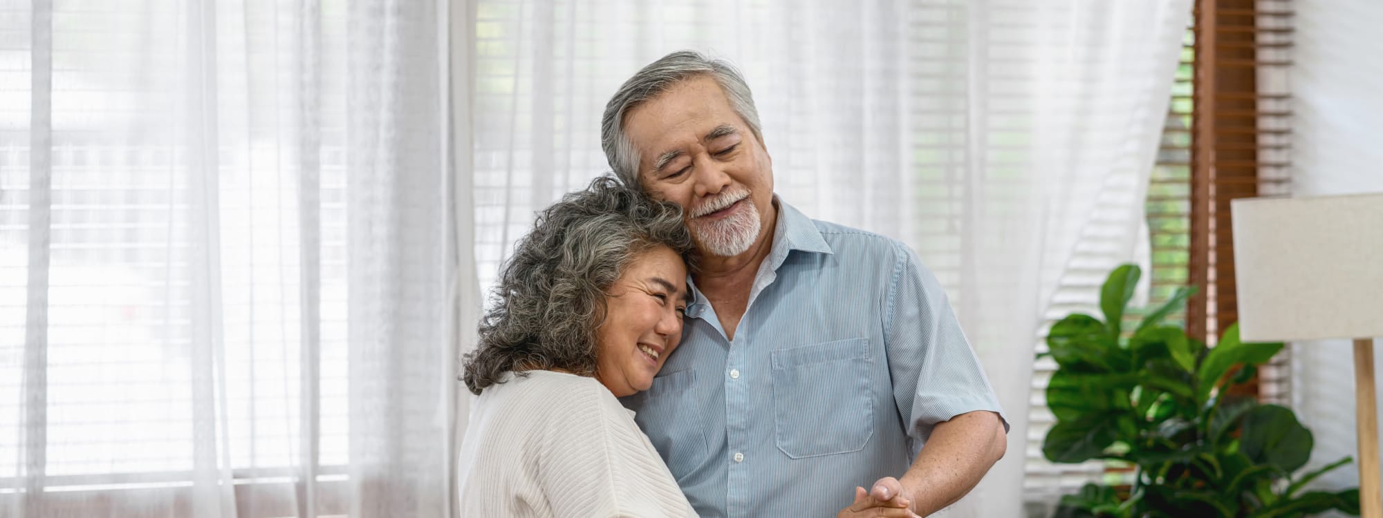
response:
<path fill-rule="evenodd" d="M 925 517 L 960 500 L 1007 448 L 1004 425 L 993 412 L 969 412 L 938 423 L 913 467 L 899 479 L 913 511 Z"/>

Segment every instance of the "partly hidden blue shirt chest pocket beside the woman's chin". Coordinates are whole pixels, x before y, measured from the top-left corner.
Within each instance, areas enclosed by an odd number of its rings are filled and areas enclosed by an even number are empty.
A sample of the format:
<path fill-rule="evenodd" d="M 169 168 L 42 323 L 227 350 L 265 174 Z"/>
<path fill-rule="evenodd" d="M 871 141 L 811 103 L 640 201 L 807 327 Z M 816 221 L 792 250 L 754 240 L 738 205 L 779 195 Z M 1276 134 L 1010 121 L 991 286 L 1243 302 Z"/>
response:
<path fill-rule="evenodd" d="M 649 435 L 649 442 L 668 464 L 672 478 L 680 481 L 705 461 L 705 434 L 697 406 L 696 370 L 679 370 L 653 378 L 639 399 L 633 421 Z"/>

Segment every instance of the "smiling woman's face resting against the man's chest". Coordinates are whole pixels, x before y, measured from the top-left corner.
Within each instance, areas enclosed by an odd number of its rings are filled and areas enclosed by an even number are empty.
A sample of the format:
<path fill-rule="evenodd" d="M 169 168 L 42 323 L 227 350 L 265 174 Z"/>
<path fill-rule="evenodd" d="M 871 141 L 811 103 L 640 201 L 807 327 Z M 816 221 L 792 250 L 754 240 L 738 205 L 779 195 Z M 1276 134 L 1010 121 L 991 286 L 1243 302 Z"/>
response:
<path fill-rule="evenodd" d="M 617 398 L 646 391 L 682 340 L 687 269 L 672 249 L 635 257 L 610 287 L 596 329 L 596 378 Z"/>

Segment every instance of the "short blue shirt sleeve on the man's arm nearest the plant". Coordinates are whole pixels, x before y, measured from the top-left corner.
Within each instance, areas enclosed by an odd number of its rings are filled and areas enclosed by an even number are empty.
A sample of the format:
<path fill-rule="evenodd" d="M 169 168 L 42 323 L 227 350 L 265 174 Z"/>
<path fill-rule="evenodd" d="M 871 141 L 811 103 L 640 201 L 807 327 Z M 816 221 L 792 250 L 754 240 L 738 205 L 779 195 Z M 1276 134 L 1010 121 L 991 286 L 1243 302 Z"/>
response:
<path fill-rule="evenodd" d="M 899 261 L 885 307 L 885 352 L 907 435 L 925 442 L 936 423 L 976 410 L 999 413 L 1007 432 L 1008 420 L 946 291 L 907 246 L 895 247 Z"/>

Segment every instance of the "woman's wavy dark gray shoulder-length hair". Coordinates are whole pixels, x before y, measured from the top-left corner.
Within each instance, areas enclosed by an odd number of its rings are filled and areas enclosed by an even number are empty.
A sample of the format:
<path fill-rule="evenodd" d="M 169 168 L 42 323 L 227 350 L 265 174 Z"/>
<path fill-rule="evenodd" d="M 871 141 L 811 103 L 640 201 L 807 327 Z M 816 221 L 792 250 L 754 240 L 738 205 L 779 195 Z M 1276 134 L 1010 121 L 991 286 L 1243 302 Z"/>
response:
<path fill-rule="evenodd" d="M 499 271 L 480 343 L 465 359 L 466 388 L 480 394 L 510 370 L 595 376 L 607 291 L 629 261 L 660 246 L 694 267 L 682 209 L 611 177 L 539 213 Z"/>

